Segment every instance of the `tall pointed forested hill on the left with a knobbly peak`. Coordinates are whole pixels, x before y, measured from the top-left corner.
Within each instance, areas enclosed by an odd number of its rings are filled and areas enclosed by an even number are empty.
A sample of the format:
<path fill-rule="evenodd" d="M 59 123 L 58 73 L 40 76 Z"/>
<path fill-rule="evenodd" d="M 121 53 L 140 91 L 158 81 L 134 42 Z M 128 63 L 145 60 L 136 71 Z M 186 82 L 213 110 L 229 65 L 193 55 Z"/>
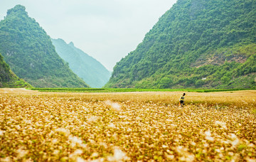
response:
<path fill-rule="evenodd" d="M 88 87 L 55 52 L 50 36 L 21 5 L 0 22 L 0 53 L 33 87 Z"/>

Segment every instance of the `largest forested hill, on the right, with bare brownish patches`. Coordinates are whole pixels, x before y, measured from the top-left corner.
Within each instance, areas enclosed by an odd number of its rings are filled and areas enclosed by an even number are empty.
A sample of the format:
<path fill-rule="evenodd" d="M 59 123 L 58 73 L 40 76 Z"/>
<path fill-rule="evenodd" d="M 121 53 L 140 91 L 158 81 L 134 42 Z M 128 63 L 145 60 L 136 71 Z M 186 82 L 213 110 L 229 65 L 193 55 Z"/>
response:
<path fill-rule="evenodd" d="M 256 1 L 178 0 L 106 87 L 256 87 Z"/>

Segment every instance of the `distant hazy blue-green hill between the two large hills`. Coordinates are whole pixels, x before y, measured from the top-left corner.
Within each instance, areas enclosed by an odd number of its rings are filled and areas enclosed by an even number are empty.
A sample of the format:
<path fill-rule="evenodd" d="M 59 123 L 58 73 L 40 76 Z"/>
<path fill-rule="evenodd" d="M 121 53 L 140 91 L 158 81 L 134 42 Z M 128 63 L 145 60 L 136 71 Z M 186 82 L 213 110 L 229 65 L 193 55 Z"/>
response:
<path fill-rule="evenodd" d="M 68 62 L 70 69 L 90 87 L 103 87 L 110 79 L 110 71 L 95 58 L 76 48 L 72 42 L 67 44 L 60 38 L 52 41 L 60 58 Z"/>

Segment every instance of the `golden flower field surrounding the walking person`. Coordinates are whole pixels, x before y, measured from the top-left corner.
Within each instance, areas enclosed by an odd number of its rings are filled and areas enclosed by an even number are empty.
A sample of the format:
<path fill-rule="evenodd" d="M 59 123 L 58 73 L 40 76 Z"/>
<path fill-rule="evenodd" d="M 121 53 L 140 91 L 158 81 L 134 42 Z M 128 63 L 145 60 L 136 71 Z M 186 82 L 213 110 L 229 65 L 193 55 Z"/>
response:
<path fill-rule="evenodd" d="M 0 161 L 256 161 L 256 91 L 0 89 Z"/>

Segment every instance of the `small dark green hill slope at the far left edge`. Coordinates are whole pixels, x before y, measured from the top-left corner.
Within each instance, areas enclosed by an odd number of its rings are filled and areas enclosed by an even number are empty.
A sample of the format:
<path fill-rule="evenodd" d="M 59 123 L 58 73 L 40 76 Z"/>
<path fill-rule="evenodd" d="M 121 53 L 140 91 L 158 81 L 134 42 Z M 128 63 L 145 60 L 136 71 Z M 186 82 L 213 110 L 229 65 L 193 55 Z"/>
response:
<path fill-rule="evenodd" d="M 19 79 L 4 61 L 0 54 L 0 87 L 31 87 L 24 80 Z"/>

